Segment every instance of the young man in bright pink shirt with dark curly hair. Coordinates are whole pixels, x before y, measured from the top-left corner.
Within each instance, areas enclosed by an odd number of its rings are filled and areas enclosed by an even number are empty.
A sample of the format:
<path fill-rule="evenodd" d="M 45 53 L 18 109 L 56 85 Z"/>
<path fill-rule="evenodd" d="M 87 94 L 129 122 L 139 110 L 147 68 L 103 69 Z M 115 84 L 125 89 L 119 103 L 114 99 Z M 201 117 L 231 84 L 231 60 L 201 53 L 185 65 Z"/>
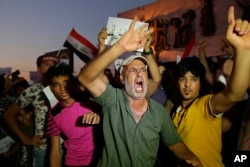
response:
<path fill-rule="evenodd" d="M 61 63 L 49 68 L 46 73 L 50 89 L 59 100 L 49 112 L 47 135 L 51 140 L 50 166 L 58 167 L 61 164 L 60 136 L 63 136 L 65 147 L 66 166 L 91 166 L 95 164 L 95 154 L 100 149 L 95 141 L 95 127 L 100 116 L 96 114 L 94 106 L 97 104 L 90 100 L 77 102 L 74 98 L 77 89 L 76 78 L 72 69 Z M 100 140 L 100 139 L 99 139 Z M 94 162 L 93 162 L 94 161 Z"/>

